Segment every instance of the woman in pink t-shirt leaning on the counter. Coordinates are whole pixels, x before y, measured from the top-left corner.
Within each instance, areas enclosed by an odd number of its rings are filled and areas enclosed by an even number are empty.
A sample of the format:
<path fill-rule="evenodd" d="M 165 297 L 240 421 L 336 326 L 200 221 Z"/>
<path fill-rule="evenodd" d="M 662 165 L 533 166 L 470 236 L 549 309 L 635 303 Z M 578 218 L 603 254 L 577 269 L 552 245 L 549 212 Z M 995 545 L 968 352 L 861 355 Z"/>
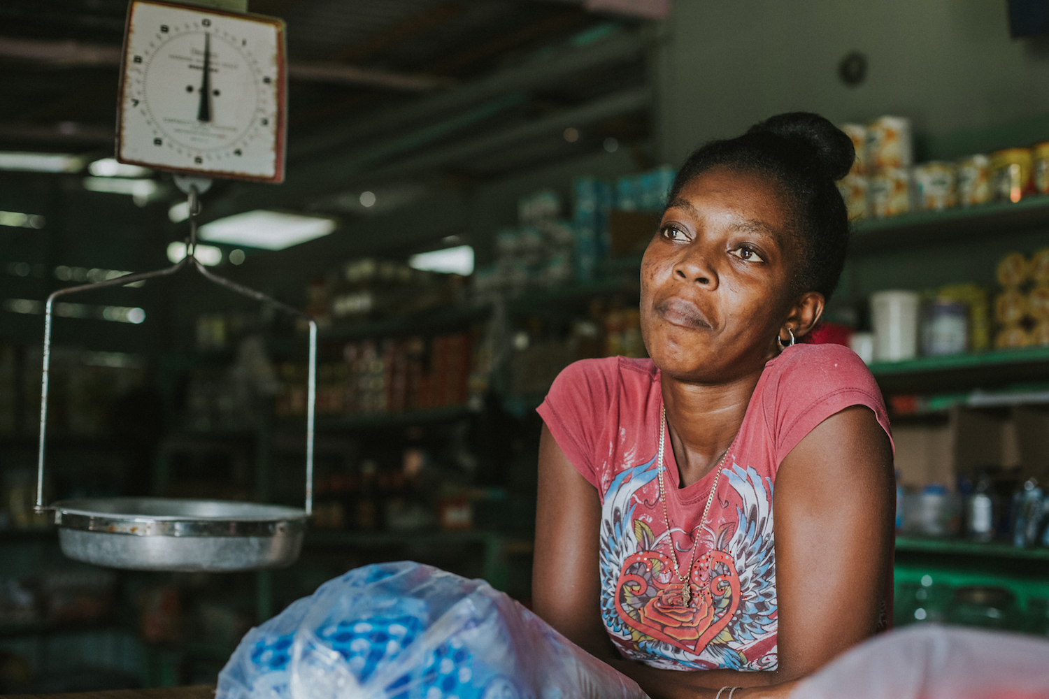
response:
<path fill-rule="evenodd" d="M 535 611 L 654 699 L 785 697 L 885 626 L 881 394 L 795 344 L 841 274 L 853 158 L 808 113 L 699 149 L 641 263 L 651 358 L 577 362 L 539 408 Z"/>

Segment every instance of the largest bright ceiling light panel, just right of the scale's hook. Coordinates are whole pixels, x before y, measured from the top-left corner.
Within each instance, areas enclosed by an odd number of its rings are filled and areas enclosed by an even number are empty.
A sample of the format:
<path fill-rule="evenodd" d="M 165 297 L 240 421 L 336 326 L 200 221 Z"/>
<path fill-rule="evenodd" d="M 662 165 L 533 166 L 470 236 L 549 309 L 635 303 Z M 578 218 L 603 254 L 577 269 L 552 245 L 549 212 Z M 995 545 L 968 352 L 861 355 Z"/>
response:
<path fill-rule="evenodd" d="M 328 235 L 336 222 L 318 216 L 256 210 L 200 226 L 200 238 L 216 243 L 282 250 Z"/>

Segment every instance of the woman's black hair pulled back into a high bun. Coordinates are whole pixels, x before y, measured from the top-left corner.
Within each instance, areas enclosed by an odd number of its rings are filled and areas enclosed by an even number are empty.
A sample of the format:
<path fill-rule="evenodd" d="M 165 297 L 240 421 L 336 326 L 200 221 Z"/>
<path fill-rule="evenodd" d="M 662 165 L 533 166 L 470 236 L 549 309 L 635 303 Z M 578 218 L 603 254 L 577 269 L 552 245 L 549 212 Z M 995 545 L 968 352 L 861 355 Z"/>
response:
<path fill-rule="evenodd" d="M 778 114 L 742 136 L 700 147 L 678 171 L 668 200 L 672 202 L 685 184 L 714 168 L 774 179 L 800 243 L 795 290 L 819 291 L 830 299 L 849 246 L 849 215 L 835 182 L 849 174 L 855 157 L 852 139 L 819 114 Z"/>

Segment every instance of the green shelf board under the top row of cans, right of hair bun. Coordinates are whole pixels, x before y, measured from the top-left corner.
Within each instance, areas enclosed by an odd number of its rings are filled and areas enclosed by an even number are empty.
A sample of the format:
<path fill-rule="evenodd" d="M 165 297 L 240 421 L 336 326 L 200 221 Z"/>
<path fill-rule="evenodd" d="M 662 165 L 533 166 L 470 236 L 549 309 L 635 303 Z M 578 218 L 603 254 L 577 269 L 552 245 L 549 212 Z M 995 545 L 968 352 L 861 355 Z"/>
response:
<path fill-rule="evenodd" d="M 1049 197 L 858 221 L 853 225 L 850 255 L 900 249 L 904 245 L 955 242 L 1001 235 L 1003 231 L 1015 234 L 1036 230 L 1049 231 Z"/>

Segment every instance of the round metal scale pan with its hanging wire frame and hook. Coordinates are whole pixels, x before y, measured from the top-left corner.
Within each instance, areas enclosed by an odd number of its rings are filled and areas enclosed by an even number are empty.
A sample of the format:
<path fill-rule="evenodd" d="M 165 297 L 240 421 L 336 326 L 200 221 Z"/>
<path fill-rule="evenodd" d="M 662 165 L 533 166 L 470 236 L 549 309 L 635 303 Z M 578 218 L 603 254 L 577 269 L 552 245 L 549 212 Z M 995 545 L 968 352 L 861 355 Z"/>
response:
<path fill-rule="evenodd" d="M 306 519 L 313 511 L 314 407 L 317 395 L 317 324 L 301 311 L 208 271 L 193 256 L 197 194 L 208 180 L 178 178 L 190 203 L 186 257 L 155 271 L 59 289 L 47 298 L 44 315 L 44 370 L 40 396 L 40 445 L 36 510 L 55 512 L 62 552 L 70 559 L 132 570 L 236 571 L 279 568 L 299 556 Z M 309 377 L 306 401 L 306 497 L 302 509 L 223 500 L 171 498 L 95 498 L 63 500 L 45 506 L 44 446 L 50 365 L 52 306 L 58 297 L 144 279 L 167 277 L 186 266 L 241 296 L 269 303 L 309 322 Z"/>

